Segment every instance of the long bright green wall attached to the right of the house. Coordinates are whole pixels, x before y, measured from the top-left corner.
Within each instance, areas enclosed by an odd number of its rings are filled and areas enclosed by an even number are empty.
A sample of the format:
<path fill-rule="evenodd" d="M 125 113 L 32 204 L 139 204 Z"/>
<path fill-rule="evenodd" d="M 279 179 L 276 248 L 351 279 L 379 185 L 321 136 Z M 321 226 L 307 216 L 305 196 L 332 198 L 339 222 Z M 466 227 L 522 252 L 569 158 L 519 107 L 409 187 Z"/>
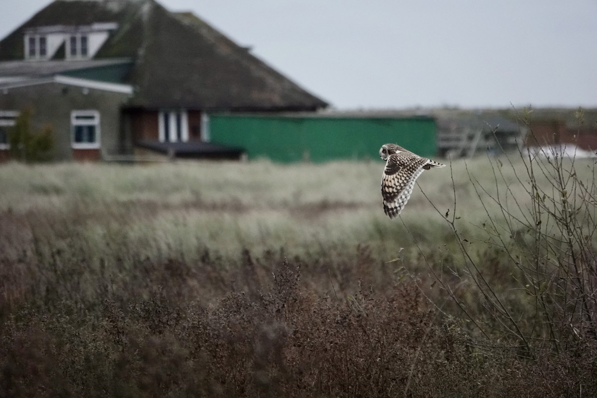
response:
<path fill-rule="evenodd" d="M 399 144 L 421 156 L 436 152 L 432 118 L 210 115 L 210 141 L 238 146 L 249 159 L 374 159 L 381 145 Z"/>

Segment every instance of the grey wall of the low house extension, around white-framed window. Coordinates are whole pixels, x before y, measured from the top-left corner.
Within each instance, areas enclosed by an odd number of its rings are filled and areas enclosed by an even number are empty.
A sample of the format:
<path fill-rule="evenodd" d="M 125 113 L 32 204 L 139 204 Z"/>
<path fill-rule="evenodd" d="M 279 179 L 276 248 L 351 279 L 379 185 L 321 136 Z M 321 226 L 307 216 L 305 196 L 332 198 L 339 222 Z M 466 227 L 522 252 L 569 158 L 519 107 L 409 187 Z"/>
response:
<path fill-rule="evenodd" d="M 129 94 L 81 88 L 73 85 L 48 82 L 3 89 L 0 91 L 0 110 L 31 109 L 31 127 L 41 129 L 51 125 L 54 132 L 54 158 L 73 158 L 71 147 L 70 112 L 72 110 L 97 110 L 100 113 L 101 155 L 119 155 L 127 141 L 121 128 L 121 107 Z"/>

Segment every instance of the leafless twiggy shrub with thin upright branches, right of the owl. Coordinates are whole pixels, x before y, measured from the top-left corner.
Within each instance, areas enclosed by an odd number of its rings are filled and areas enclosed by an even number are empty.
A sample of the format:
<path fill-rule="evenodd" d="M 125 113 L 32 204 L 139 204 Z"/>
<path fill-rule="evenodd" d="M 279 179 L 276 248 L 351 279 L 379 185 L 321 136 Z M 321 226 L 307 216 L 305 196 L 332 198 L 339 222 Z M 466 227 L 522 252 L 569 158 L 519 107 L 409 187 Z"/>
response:
<path fill-rule="evenodd" d="M 454 207 L 437 209 L 457 238 L 456 262 L 445 264 L 456 279 L 428 264 L 469 320 L 476 347 L 537 359 L 597 338 L 596 162 L 564 152 L 512 156 L 490 159 L 489 179 L 467 171 L 486 215 L 474 230 L 463 229 L 456 190 Z"/>

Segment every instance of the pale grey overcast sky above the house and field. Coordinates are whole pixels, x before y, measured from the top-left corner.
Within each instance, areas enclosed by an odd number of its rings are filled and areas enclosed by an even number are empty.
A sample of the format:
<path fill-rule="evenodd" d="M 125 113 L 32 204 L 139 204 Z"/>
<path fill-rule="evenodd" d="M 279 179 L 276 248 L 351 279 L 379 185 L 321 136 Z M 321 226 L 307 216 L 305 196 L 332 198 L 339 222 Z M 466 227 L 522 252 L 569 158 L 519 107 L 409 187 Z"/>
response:
<path fill-rule="evenodd" d="M 10 1 L 4 38 L 50 0 Z M 596 0 L 162 0 L 338 109 L 597 106 Z"/>

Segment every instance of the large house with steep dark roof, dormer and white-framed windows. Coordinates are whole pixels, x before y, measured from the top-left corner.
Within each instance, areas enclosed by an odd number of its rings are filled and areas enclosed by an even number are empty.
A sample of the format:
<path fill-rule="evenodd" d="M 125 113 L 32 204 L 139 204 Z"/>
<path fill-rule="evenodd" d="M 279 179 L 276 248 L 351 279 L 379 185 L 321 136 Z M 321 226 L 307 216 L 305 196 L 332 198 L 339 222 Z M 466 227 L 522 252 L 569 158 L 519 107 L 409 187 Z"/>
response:
<path fill-rule="evenodd" d="M 327 103 L 191 13 L 154 0 L 56 0 L 0 41 L 0 158 L 25 109 L 54 158 L 161 153 L 237 158 L 208 143 L 218 112 L 312 112 Z"/>

